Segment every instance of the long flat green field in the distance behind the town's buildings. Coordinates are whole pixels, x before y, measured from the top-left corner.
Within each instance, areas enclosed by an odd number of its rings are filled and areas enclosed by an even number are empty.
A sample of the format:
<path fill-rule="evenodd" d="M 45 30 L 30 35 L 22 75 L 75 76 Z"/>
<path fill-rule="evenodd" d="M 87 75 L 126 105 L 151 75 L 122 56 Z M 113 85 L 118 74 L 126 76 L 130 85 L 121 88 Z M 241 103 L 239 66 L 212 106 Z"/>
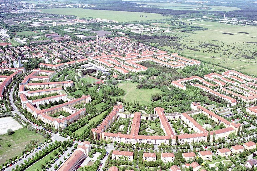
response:
<path fill-rule="evenodd" d="M 77 17 L 93 17 L 103 18 L 109 20 L 115 20 L 118 22 L 130 22 L 130 21 L 144 21 L 144 20 L 157 20 L 169 18 L 161 16 L 161 14 L 153 13 L 138 13 L 138 12 L 125 12 L 125 11 L 105 11 L 105 10 L 94 10 L 94 9 L 83 9 L 83 8 L 47 8 L 42 9 L 44 13 L 50 14 L 65 14 L 75 15 Z M 143 17 L 140 17 L 140 15 Z M 144 17 L 147 16 L 147 17 Z"/>

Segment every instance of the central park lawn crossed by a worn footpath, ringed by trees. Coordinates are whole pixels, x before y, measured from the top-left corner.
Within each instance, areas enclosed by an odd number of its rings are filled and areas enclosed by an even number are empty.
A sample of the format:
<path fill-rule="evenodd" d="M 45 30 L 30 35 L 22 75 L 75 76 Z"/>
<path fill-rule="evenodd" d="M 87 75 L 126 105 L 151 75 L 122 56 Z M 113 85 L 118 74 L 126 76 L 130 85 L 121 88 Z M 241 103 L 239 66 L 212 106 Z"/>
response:
<path fill-rule="evenodd" d="M 111 98 L 122 98 L 128 102 L 139 101 L 140 105 L 145 105 L 151 102 L 151 95 L 156 93 L 161 93 L 162 91 L 158 88 L 153 89 L 136 89 L 138 83 L 125 81 L 118 83 L 118 87 L 125 91 L 124 96 L 116 96 Z"/>

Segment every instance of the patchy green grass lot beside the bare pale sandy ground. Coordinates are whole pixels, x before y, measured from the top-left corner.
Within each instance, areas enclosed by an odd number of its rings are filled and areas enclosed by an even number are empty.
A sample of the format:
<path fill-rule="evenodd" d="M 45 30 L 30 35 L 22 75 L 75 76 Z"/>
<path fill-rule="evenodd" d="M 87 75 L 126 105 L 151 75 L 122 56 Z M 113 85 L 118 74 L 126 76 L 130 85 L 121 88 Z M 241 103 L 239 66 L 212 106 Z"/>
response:
<path fill-rule="evenodd" d="M 26 128 L 21 128 L 14 131 L 12 135 L 1 135 L 0 140 L 0 164 L 3 164 L 7 159 L 14 157 L 16 155 L 21 155 L 24 146 L 27 145 L 30 140 L 38 139 L 40 142 L 44 142 L 45 138 L 39 134 L 27 130 Z M 10 147 L 7 147 L 8 144 Z"/>

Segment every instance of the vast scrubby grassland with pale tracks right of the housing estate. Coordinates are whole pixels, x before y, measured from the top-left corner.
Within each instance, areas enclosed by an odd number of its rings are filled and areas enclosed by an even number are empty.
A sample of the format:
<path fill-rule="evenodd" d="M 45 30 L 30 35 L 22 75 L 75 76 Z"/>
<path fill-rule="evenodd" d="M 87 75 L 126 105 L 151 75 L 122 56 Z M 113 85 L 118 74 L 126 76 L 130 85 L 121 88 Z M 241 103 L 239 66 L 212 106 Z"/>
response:
<path fill-rule="evenodd" d="M 251 59 L 251 56 L 256 56 L 257 44 L 245 43 L 256 40 L 257 29 L 254 26 L 238 26 L 208 21 L 192 23 L 182 21 L 194 26 L 206 27 L 208 30 L 170 33 L 171 36 L 179 37 L 181 46 L 180 48 L 163 46 L 164 49 L 256 75 L 257 62 L 255 59 Z M 222 34 L 223 32 L 234 33 L 234 35 Z M 249 34 L 238 32 L 249 32 Z M 206 43 L 218 45 L 218 47 L 206 45 Z M 189 50 L 187 47 L 196 48 L 199 51 Z M 247 55 L 249 58 L 243 58 L 242 55 Z"/>

